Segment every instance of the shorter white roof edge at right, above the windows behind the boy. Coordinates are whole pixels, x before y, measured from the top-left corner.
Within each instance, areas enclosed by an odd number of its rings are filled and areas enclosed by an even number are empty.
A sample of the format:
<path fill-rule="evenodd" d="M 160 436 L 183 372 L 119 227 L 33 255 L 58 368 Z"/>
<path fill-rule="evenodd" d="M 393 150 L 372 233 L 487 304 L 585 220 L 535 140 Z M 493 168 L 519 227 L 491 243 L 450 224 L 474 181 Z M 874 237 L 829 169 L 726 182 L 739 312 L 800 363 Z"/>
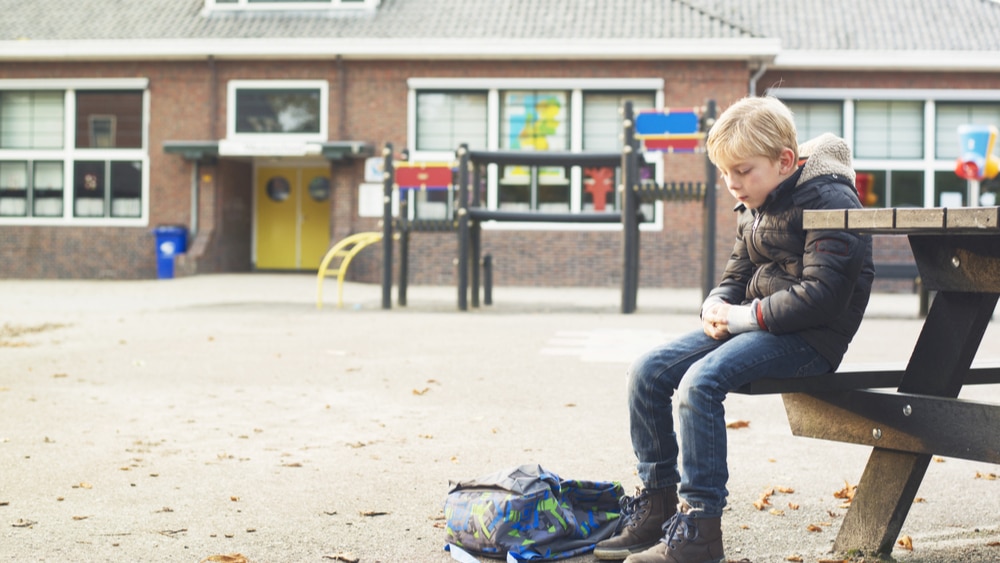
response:
<path fill-rule="evenodd" d="M 1000 57 L 995 51 L 786 50 L 770 66 L 774 70 L 995 72 L 1000 70 Z"/>

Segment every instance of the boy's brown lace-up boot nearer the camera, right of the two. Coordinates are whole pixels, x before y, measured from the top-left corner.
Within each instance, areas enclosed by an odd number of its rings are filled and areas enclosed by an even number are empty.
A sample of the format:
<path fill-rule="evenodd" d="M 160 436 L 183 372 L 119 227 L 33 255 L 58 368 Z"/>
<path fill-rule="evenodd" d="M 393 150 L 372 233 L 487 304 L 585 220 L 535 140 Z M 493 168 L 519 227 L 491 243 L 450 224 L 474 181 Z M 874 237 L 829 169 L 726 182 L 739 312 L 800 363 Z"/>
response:
<path fill-rule="evenodd" d="M 663 531 L 660 543 L 630 555 L 625 563 L 722 563 L 725 559 L 721 518 L 695 518 L 678 512 Z"/>

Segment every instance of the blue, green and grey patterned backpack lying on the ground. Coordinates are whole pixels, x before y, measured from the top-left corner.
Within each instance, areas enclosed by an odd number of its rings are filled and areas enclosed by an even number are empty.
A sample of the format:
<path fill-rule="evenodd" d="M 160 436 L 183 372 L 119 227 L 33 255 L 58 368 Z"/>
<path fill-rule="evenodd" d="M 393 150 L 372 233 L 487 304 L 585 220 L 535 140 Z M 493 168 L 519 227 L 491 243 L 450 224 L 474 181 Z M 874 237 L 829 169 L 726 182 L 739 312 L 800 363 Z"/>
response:
<path fill-rule="evenodd" d="M 563 480 L 539 465 L 451 485 L 444 505 L 446 549 L 515 561 L 593 550 L 614 534 L 623 494 L 618 482 Z"/>

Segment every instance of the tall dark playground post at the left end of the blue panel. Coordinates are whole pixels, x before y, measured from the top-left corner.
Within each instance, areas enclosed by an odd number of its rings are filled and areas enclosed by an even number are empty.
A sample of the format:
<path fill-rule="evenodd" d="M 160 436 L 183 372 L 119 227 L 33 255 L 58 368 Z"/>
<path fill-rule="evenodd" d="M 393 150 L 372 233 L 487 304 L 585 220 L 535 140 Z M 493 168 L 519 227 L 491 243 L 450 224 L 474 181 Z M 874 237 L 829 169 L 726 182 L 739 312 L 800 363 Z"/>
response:
<path fill-rule="evenodd" d="M 639 175 L 639 160 L 635 143 L 635 119 L 632 102 L 625 102 L 622 110 L 622 313 L 635 311 L 638 289 L 639 222 L 637 217 L 635 185 Z"/>

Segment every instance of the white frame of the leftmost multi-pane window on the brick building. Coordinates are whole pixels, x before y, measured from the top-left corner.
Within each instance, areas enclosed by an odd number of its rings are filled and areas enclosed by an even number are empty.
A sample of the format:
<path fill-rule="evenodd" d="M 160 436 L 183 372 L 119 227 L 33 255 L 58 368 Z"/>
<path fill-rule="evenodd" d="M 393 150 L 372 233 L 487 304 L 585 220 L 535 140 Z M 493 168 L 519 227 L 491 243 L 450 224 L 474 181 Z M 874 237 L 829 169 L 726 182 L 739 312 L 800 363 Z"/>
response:
<path fill-rule="evenodd" d="M 0 79 L 0 90 L 58 90 L 63 92 L 63 148 L 0 149 L 2 160 L 61 161 L 63 214 L 60 217 L 0 217 L 0 225 L 60 227 L 146 227 L 149 225 L 149 80 L 146 78 Z M 76 93 L 78 90 L 141 90 L 142 146 L 140 148 L 76 148 Z M 81 160 L 138 161 L 142 163 L 142 209 L 139 217 L 75 217 L 73 163 Z"/>

